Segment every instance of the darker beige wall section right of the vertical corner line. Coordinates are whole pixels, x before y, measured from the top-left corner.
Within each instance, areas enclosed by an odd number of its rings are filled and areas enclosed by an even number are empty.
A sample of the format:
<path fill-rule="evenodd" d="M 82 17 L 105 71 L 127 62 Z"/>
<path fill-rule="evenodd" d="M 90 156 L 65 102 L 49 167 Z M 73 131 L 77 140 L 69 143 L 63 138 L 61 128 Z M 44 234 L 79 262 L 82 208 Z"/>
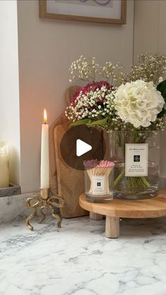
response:
<path fill-rule="evenodd" d="M 145 51 L 166 54 L 166 1 L 136 0 L 134 7 L 134 61 Z M 166 178 L 166 130 L 161 135 L 160 176 Z"/>

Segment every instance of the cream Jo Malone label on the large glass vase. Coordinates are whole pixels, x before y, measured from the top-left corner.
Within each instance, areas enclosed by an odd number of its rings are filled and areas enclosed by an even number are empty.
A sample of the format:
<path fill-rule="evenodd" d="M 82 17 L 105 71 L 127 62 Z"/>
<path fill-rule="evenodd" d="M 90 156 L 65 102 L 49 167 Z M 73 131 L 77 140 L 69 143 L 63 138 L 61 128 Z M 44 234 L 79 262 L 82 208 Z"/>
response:
<path fill-rule="evenodd" d="M 125 176 L 148 176 L 148 144 L 125 144 Z"/>

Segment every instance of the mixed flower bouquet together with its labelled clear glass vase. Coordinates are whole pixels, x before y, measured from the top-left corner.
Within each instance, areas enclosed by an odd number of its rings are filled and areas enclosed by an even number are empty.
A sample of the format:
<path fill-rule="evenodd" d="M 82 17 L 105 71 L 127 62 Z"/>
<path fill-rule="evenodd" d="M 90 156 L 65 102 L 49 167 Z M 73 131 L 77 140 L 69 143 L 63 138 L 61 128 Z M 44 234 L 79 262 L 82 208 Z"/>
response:
<path fill-rule="evenodd" d="M 148 161 L 148 151 L 156 146 L 151 138 L 165 127 L 166 56 L 141 54 L 129 73 L 122 73 L 119 63 L 100 66 L 96 58 L 81 56 L 72 63 L 70 73 L 70 80 L 88 84 L 79 87 L 65 115 L 72 126 L 84 124 L 112 132 L 111 144 L 121 153 L 114 182 L 117 196 L 155 196 L 158 171 Z"/>

